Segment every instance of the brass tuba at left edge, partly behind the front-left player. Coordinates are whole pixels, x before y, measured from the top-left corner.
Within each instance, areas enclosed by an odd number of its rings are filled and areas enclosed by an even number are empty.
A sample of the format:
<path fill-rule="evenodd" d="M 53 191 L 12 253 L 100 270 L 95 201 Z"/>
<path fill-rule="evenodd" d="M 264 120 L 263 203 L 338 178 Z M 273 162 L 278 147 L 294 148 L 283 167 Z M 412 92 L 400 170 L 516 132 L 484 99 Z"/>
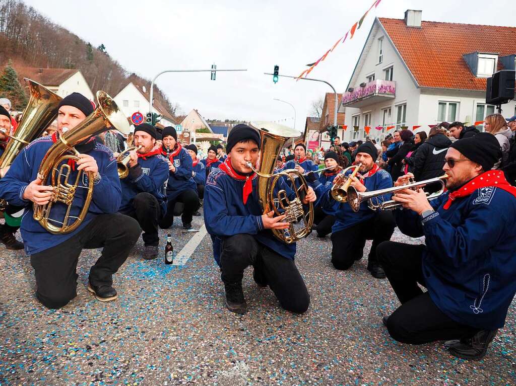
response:
<path fill-rule="evenodd" d="M 0 177 L 5 176 L 20 150 L 31 141 L 41 137 L 46 127 L 56 119 L 57 106 L 62 99 L 34 80 L 24 79 L 29 88 L 29 102 L 23 110 L 22 120 L 16 129 L 15 136 L 6 133 L 11 140 L 0 157 Z M 6 207 L 6 200 L 0 199 L 0 210 L 5 210 Z"/>

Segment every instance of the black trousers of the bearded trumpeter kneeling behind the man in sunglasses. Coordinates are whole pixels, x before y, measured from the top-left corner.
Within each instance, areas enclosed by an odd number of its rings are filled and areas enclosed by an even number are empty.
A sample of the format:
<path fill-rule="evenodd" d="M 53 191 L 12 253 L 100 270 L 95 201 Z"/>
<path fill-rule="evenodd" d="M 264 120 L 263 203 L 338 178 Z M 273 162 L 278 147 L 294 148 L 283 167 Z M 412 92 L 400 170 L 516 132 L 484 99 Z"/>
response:
<path fill-rule="evenodd" d="M 369 263 L 376 264 L 376 248 L 382 241 L 391 239 L 396 223 L 389 211 L 379 211 L 372 219 L 331 234 L 331 262 L 337 270 L 347 270 L 364 255 L 366 240 L 373 240 Z"/>

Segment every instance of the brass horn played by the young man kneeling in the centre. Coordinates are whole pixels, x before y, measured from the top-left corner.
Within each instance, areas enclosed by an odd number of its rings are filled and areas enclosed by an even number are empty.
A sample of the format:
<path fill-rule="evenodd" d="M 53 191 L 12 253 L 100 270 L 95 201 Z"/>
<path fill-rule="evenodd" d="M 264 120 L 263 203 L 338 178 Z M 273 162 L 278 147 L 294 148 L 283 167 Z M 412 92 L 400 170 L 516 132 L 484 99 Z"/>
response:
<path fill-rule="evenodd" d="M 297 170 L 289 169 L 273 174 L 276 160 L 285 141 L 299 136 L 294 129 L 270 122 L 251 122 L 251 126 L 260 131 L 262 143 L 260 146 L 260 161 L 257 168 L 251 163 L 249 167 L 258 175 L 258 197 L 264 214 L 274 211 L 275 215 L 286 214 L 285 222 L 290 223 L 288 229 L 271 229 L 274 236 L 286 244 L 294 243 L 306 237 L 312 231 L 314 222 L 314 208 L 308 204 L 308 211 L 304 212 L 302 198 L 308 191 L 307 181 Z M 276 184 L 280 178 L 286 178 L 292 183 L 296 197 L 290 200 L 285 190 L 275 193 Z M 299 187 L 296 186 L 296 181 Z M 302 222 L 299 229 L 294 223 Z"/>

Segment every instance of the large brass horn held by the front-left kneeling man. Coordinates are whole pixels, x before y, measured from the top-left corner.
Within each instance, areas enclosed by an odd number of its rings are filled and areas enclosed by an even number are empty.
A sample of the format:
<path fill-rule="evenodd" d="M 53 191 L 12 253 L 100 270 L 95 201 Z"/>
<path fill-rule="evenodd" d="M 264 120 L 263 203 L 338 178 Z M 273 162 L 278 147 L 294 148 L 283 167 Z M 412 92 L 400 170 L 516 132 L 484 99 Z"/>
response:
<path fill-rule="evenodd" d="M 43 183 L 46 183 L 49 175 L 51 175 L 50 184 L 54 187 L 54 190 L 52 191 L 53 194 L 49 203 L 45 205 L 34 204 L 34 219 L 38 221 L 43 228 L 54 234 L 69 233 L 75 230 L 86 218 L 93 195 L 93 173 L 86 172 L 88 175 L 87 188 L 79 186 L 82 181 L 82 171 L 77 172 L 77 177 L 73 183 L 68 181 L 71 169 L 66 161 L 70 159 L 77 161 L 79 159 L 77 157 L 79 153 L 73 146 L 90 137 L 99 135 L 106 130 L 117 129 L 123 134 L 128 134 L 131 130 L 125 115 L 109 95 L 104 91 L 97 91 L 96 97 L 99 106 L 88 115 L 83 122 L 72 130 L 62 133 L 59 137 L 59 141 L 54 143 L 47 151 L 39 167 L 38 178 L 40 178 Z M 65 163 L 63 163 L 63 161 L 65 161 Z M 87 189 L 88 192 L 84 200 L 83 208 L 75 217 L 76 220 L 69 224 L 69 220 L 73 218 L 70 212 L 78 188 Z M 62 221 L 50 218 L 51 208 L 54 203 L 58 202 L 68 207 Z M 58 223 L 60 225 L 56 226 L 52 223 Z"/>

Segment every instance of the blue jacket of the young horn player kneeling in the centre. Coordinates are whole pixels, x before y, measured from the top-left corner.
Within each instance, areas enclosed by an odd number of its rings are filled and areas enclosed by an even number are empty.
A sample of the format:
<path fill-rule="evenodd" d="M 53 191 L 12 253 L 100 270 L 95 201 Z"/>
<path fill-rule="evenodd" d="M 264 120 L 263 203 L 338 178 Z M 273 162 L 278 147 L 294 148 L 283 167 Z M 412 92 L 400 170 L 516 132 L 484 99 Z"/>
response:
<path fill-rule="evenodd" d="M 243 180 L 237 180 L 224 171 L 213 169 L 206 180 L 204 190 L 204 224 L 213 242 L 215 261 L 220 265 L 222 239 L 235 234 L 252 234 L 256 241 L 269 247 L 279 255 L 294 260 L 296 244 L 285 244 L 273 236 L 270 229 L 264 229 L 262 223 L 263 210 L 258 201 L 255 178 L 253 191 L 244 205 L 242 193 Z M 292 190 L 278 182 L 279 189 L 288 193 Z"/>

